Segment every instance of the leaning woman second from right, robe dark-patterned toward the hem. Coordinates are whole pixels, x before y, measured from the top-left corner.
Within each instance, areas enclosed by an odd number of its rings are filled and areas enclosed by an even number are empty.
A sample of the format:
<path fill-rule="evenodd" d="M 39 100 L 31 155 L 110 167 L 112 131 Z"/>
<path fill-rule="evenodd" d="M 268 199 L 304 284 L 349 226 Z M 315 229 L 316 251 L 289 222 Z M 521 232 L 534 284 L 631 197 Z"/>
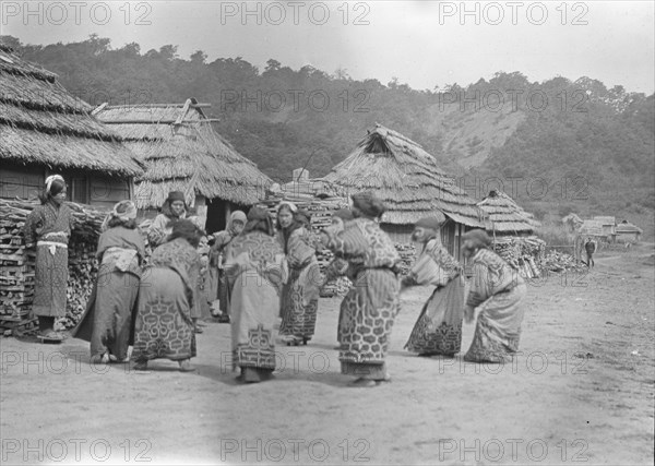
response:
<path fill-rule="evenodd" d="M 412 239 L 421 242 L 422 250 L 409 275 L 401 283 L 402 288 L 416 285 L 437 287 L 425 303 L 405 345 L 418 356 L 454 356 L 462 345 L 462 266 L 441 243 L 440 228 L 441 222 L 436 217 L 421 218 L 416 223 Z"/>

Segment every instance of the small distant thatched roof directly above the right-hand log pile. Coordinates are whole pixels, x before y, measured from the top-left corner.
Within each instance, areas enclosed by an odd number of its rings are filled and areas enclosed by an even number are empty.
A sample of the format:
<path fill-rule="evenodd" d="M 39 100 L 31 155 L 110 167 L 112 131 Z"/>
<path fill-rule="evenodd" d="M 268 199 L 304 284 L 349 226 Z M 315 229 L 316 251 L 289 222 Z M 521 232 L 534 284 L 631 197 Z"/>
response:
<path fill-rule="evenodd" d="M 532 234 L 541 225 L 502 191 L 490 191 L 478 206 L 489 216 L 488 228 L 500 234 Z"/>

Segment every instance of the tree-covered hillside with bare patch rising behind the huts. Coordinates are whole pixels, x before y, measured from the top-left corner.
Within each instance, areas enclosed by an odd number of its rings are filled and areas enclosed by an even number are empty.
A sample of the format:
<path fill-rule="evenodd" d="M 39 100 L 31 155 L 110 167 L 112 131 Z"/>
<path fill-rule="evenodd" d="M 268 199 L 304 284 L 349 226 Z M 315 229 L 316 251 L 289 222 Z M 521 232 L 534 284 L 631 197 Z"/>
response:
<path fill-rule="evenodd" d="M 417 91 L 397 80 L 356 81 L 347 70 L 291 70 L 275 58 L 260 70 L 240 57 L 207 62 L 201 50 L 179 57 L 175 45 L 118 48 L 95 35 L 46 46 L 2 41 L 92 105 L 212 104 L 215 129 L 281 181 L 306 164 L 312 177 L 325 175 L 380 122 L 420 143 L 478 199 L 502 183 L 538 217 L 616 215 L 646 223 L 652 235 L 653 95 L 588 77 L 529 82 L 520 72 Z"/>

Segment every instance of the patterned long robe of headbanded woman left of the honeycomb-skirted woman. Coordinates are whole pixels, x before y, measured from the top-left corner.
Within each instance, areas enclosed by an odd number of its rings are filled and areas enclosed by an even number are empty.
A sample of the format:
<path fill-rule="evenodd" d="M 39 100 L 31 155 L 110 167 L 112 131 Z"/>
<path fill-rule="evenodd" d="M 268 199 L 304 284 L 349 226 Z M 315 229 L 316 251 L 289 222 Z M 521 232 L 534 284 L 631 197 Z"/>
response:
<path fill-rule="evenodd" d="M 284 235 L 277 235 L 284 248 Z M 282 290 L 282 323 L 279 335 L 297 340 L 311 339 L 317 325 L 319 292 L 323 285 L 311 234 L 300 227 L 289 235 L 286 243 L 289 279 Z"/>

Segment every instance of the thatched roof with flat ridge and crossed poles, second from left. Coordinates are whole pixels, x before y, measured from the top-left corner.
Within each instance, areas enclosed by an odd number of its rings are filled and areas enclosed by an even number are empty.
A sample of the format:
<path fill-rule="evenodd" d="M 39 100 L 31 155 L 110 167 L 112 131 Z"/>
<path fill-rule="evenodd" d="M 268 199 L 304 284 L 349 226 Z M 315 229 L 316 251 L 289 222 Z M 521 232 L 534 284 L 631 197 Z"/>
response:
<path fill-rule="evenodd" d="M 169 191 L 182 191 L 193 205 L 196 194 L 238 204 L 264 198 L 272 180 L 216 133 L 194 98 L 183 104 L 107 106 L 94 115 L 109 124 L 146 165 L 136 179 L 140 208 L 160 206 Z"/>

